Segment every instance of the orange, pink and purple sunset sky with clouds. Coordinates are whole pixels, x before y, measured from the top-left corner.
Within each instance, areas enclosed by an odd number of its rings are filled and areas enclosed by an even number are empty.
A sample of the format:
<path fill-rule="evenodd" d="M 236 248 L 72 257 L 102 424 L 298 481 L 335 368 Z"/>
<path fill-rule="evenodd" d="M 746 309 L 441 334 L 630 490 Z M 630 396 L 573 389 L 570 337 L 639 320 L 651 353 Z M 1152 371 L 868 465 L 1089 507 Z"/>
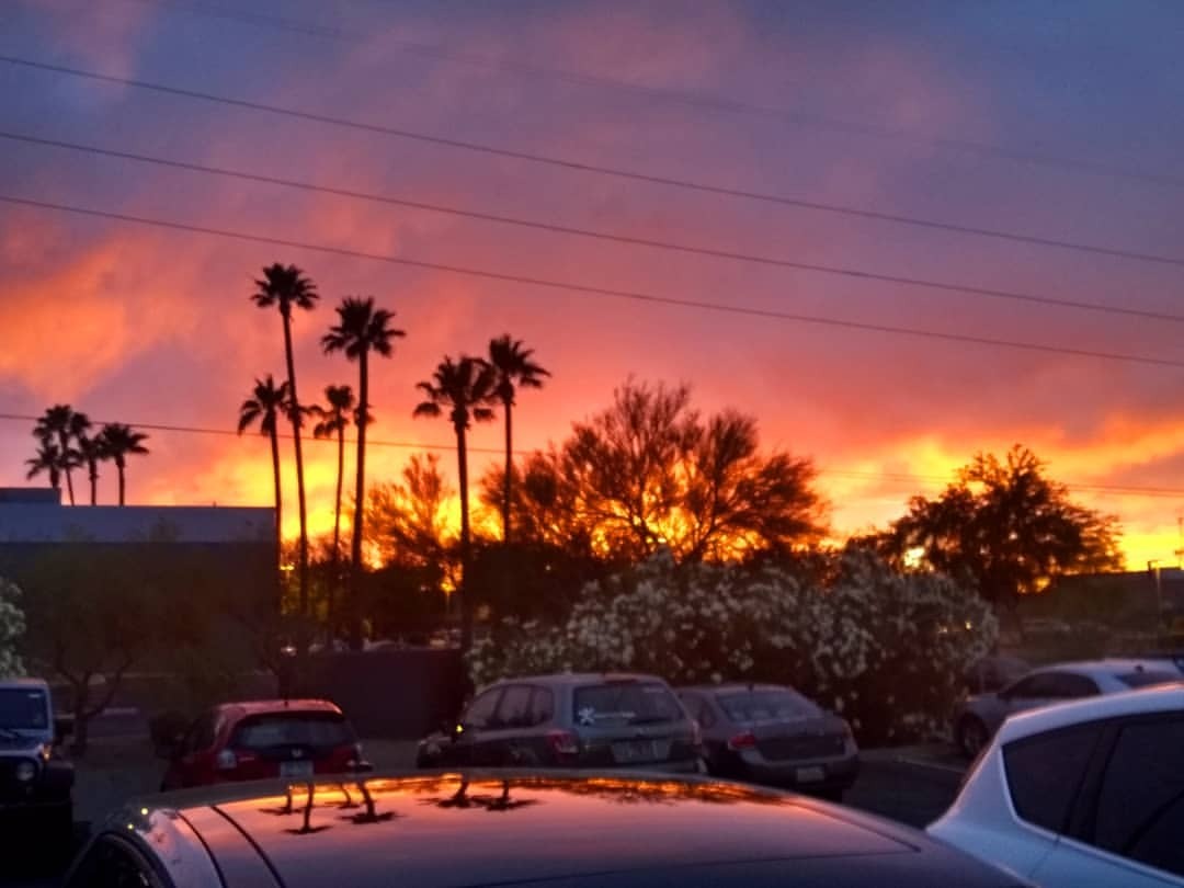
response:
<path fill-rule="evenodd" d="M 375 446 L 373 480 L 395 478 L 425 446 L 443 448 L 451 469 L 446 423 L 411 416 L 414 384 L 445 354 L 481 353 L 509 333 L 553 374 L 520 399 L 521 449 L 561 440 L 630 377 L 687 382 L 703 411 L 751 413 L 766 448 L 815 459 L 836 536 L 883 526 L 974 452 L 1023 443 L 1077 501 L 1119 516 L 1132 568 L 1173 564 L 1184 545 L 1182 39 L 1173 0 L 2 0 L 0 198 L 300 245 L 0 201 L 0 413 L 69 403 L 101 420 L 232 431 L 252 380 L 283 373 L 279 317 L 251 304 L 252 278 L 295 263 L 322 294 L 294 330 L 303 399 L 356 382 L 355 367 L 318 345 L 341 297 L 373 295 L 406 330 L 374 367 L 371 436 L 408 446 Z M 1159 316 L 610 243 L 12 136 Z M 31 425 L 0 420 L 0 484 L 26 483 Z M 149 433 L 152 455 L 129 468 L 133 502 L 270 504 L 264 438 Z M 497 459 L 501 429 L 471 440 L 480 472 Z M 322 533 L 335 449 L 318 442 L 307 453 L 310 526 Z M 101 497 L 114 496 L 104 477 Z M 292 522 L 287 509 L 289 532 Z"/>

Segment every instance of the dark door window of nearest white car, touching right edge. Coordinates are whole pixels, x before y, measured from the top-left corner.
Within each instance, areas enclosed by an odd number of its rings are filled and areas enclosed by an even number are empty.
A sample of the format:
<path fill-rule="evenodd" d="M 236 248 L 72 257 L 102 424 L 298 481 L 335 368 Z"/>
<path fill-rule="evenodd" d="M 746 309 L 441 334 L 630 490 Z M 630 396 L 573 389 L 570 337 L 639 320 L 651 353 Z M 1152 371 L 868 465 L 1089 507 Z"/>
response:
<path fill-rule="evenodd" d="M 1093 843 L 1184 875 L 1184 719 L 1119 731 L 1098 796 Z"/>

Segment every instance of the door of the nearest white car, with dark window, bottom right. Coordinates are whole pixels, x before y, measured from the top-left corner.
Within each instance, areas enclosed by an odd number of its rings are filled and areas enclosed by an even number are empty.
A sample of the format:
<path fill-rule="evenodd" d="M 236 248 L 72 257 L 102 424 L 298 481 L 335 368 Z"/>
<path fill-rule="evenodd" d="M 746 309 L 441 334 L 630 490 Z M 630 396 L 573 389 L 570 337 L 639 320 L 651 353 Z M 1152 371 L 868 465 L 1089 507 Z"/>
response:
<path fill-rule="evenodd" d="M 1042 886 L 1184 886 L 1184 713 L 1109 726 L 1074 824 L 1032 874 Z"/>

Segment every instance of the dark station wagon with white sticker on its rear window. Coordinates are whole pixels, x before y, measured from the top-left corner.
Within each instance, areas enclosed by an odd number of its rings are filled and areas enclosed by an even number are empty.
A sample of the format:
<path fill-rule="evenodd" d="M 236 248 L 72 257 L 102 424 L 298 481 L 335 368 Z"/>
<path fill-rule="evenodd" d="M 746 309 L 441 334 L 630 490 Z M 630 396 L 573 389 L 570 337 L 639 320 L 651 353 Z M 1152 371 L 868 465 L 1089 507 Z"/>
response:
<path fill-rule="evenodd" d="M 420 741 L 420 767 L 701 767 L 699 727 L 649 675 L 507 678 L 448 728 Z"/>

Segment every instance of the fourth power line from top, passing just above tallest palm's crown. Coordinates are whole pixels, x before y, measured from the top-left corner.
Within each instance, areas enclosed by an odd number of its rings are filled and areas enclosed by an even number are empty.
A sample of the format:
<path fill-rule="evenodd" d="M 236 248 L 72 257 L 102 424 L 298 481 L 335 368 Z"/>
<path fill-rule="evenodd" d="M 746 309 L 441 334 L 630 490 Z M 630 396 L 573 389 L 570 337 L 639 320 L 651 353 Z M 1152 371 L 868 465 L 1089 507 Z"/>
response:
<path fill-rule="evenodd" d="M 52 210 L 63 213 L 73 213 L 76 215 L 86 215 L 98 219 L 111 219 L 115 221 L 131 223 L 135 225 L 146 225 L 169 231 L 184 231 L 194 234 L 210 234 L 232 240 L 243 240 L 246 243 L 269 244 L 271 246 L 284 246 L 296 250 L 308 250 L 313 252 L 328 253 L 330 256 L 345 256 L 355 259 L 371 259 L 374 262 L 385 262 L 393 265 L 404 265 L 407 268 L 424 269 L 429 271 L 443 271 L 451 275 L 476 277 L 485 281 L 498 281 L 502 283 L 527 284 L 529 287 L 541 287 L 552 290 L 583 292 L 590 296 L 606 296 L 611 298 L 632 300 L 635 302 L 646 302 L 657 305 L 676 305 L 680 308 L 720 311 L 723 314 L 745 315 L 749 317 L 776 318 L 779 321 L 790 321 L 793 323 L 805 323 L 805 324 L 815 324 L 822 327 L 834 327 L 838 329 L 866 330 L 869 333 L 886 333 L 894 336 L 915 336 L 920 339 L 944 340 L 947 342 L 961 342 L 976 346 L 989 346 L 995 348 L 1012 348 L 1024 352 L 1042 352 L 1048 354 L 1069 355 L 1074 358 L 1090 358 L 1090 359 L 1107 360 L 1107 361 L 1124 361 L 1127 363 L 1140 363 L 1156 367 L 1171 367 L 1173 369 L 1184 369 L 1184 361 L 1172 360 L 1169 358 L 1153 358 L 1150 355 L 1126 354 L 1120 352 L 1099 352 L 1086 348 L 1070 348 L 1067 346 L 1049 346 L 1037 342 L 1018 342 L 1015 340 L 992 339 L 989 336 L 972 336 L 969 334 L 960 334 L 960 333 L 942 333 L 939 330 L 928 330 L 916 327 L 896 327 L 892 324 L 880 324 L 867 321 L 848 321 L 839 317 L 826 317 L 823 315 L 805 315 L 790 311 L 777 311 L 773 309 L 752 308 L 747 305 L 728 305 L 726 303 L 709 302 L 706 300 L 684 300 L 674 296 L 658 296 L 656 294 L 642 292 L 638 290 L 616 290 L 606 287 L 592 287 L 588 284 L 578 284 L 566 281 L 553 281 L 549 278 L 530 277 L 527 275 L 511 275 L 500 271 L 489 271 L 485 269 L 468 268 L 464 265 L 450 265 L 437 262 L 424 262 L 420 259 L 412 259 L 401 256 L 372 253 L 372 252 L 365 252 L 362 250 L 350 250 L 348 247 L 342 247 L 342 246 L 329 246 L 327 244 L 310 244 L 307 242 L 291 240 L 288 238 L 269 237 L 264 234 L 252 234 L 249 232 L 230 231 L 226 229 L 214 229 L 204 225 L 189 225 L 186 223 L 170 221 L 166 219 L 150 219 L 147 217 L 130 215 L 127 213 L 116 213 L 107 210 L 91 210 L 89 207 L 71 206 L 67 204 L 54 204 L 45 200 L 32 200 L 28 198 L 15 198 L 5 194 L 0 194 L 0 202 L 12 204 L 15 206 L 36 207 L 39 210 Z"/>

